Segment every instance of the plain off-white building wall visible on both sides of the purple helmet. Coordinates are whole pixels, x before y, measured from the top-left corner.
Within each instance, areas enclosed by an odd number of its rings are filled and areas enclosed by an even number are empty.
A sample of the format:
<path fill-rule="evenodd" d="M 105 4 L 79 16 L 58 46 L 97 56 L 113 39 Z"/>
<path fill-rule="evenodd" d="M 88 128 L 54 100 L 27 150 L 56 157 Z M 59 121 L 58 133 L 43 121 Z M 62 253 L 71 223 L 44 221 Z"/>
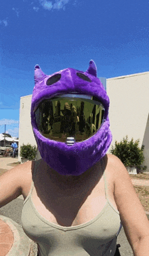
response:
<path fill-rule="evenodd" d="M 140 139 L 140 147 L 145 145 L 144 165 L 149 172 L 149 72 L 109 78 L 106 90 L 110 98 L 111 145 L 126 135 L 129 141 Z M 23 143 L 37 145 L 30 124 L 31 97 L 20 98 L 19 147 Z"/>

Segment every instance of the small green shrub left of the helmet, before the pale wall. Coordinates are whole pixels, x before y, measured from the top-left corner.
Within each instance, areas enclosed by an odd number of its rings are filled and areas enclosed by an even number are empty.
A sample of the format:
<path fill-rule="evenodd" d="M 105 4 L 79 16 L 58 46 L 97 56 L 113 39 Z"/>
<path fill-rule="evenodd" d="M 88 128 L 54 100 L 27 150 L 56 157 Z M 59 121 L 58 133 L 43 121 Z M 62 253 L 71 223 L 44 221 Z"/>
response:
<path fill-rule="evenodd" d="M 34 160 L 37 153 L 37 147 L 30 144 L 22 145 L 20 147 L 20 156 L 22 158 L 28 158 L 28 160 Z"/>

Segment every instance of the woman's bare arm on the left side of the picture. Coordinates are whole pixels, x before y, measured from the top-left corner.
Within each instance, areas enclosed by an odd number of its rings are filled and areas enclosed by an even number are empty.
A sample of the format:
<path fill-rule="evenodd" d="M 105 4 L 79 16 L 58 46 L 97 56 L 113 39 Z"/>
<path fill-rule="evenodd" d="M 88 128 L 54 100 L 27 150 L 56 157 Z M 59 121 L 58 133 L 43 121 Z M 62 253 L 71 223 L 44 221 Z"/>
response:
<path fill-rule="evenodd" d="M 31 162 L 20 164 L 0 176 L 0 207 L 18 198 L 30 185 Z"/>

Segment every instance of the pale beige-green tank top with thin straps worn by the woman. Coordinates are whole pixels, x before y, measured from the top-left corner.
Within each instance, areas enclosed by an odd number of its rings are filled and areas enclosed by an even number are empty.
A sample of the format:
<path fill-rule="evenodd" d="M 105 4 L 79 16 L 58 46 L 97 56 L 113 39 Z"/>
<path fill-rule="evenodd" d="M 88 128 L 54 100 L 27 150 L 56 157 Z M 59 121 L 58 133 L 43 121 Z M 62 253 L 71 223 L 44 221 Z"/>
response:
<path fill-rule="evenodd" d="M 24 200 L 22 227 L 26 235 L 37 242 L 39 256 L 114 255 L 121 220 L 119 211 L 108 200 L 105 172 L 106 205 L 91 221 L 71 227 L 51 223 L 39 214 L 31 198 L 33 187 L 32 182 L 30 192 Z"/>

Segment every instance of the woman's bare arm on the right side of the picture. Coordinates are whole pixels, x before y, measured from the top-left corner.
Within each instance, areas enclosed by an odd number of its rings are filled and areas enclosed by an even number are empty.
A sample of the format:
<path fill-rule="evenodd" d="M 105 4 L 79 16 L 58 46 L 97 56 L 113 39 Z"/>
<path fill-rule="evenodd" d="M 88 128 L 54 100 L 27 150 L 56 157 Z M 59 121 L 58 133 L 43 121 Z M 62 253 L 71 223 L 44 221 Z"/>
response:
<path fill-rule="evenodd" d="M 114 199 L 135 256 L 149 255 L 149 221 L 135 193 L 127 169 L 116 156 L 108 158 L 114 173 Z"/>

